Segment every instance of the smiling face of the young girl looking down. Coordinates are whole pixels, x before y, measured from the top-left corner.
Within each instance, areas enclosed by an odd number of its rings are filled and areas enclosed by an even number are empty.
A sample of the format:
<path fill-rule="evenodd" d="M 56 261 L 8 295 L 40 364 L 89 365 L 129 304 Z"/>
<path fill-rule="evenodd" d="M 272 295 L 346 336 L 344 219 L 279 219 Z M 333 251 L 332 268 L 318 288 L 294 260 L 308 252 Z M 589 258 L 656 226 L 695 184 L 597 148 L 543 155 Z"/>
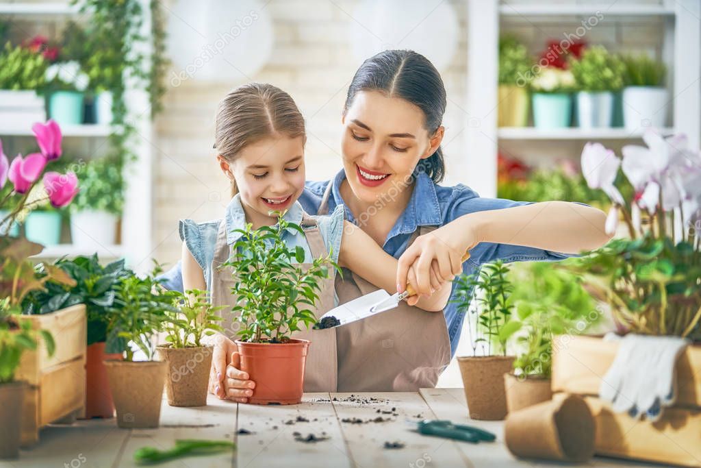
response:
<path fill-rule="evenodd" d="M 275 135 L 246 145 L 229 163 L 219 156 L 227 177 L 236 181 L 246 218 L 254 224 L 269 225 L 271 211 L 284 211 L 304 190 L 304 137 Z"/>

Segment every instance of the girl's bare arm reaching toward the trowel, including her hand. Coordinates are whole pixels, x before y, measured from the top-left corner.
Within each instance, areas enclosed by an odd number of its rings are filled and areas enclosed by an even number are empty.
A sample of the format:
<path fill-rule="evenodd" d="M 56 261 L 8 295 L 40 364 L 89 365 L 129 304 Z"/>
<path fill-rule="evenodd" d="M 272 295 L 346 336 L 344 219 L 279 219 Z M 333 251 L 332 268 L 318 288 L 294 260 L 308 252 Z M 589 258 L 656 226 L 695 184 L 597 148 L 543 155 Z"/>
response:
<path fill-rule="evenodd" d="M 343 221 L 343 241 L 339 251 L 339 266 L 346 267 L 358 274 L 362 279 L 388 291 L 390 294 L 397 290 L 397 259 L 386 253 L 360 227 L 351 222 Z M 416 287 L 413 270 L 409 270 L 409 283 Z M 407 304 L 416 305 L 430 312 L 442 311 L 450 296 L 450 286 L 437 281 L 433 276 L 435 293 L 426 293 L 428 297 L 411 296 Z"/>

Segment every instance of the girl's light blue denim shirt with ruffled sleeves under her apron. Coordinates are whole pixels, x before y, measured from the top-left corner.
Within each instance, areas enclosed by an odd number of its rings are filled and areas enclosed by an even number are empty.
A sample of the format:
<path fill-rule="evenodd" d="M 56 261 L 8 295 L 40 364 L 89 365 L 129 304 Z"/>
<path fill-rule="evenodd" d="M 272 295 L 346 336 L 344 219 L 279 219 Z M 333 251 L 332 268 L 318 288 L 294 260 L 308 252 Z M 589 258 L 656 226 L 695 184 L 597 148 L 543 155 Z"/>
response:
<path fill-rule="evenodd" d="M 285 220 L 289 222 L 294 222 L 294 224 L 299 225 L 302 220 L 303 208 L 299 204 L 299 201 L 295 201 L 294 204 L 287 210 L 287 213 L 283 216 Z M 339 250 L 341 249 L 341 236 L 343 235 L 343 208 L 339 207 L 333 212 L 329 211 L 330 215 L 327 216 L 316 216 L 313 215 L 312 218 L 318 223 L 319 231 L 321 233 L 322 239 L 327 247 L 328 251 L 332 253 L 332 259 L 334 262 L 338 261 Z M 217 242 L 217 234 L 219 232 L 219 225 L 222 220 L 205 221 L 205 222 L 194 222 L 193 220 L 180 220 L 178 225 L 178 231 L 180 234 L 180 239 L 185 241 L 188 250 L 192 254 L 193 258 L 196 260 L 198 265 L 202 268 L 205 274 L 205 283 L 207 284 L 207 290 L 212 288 L 212 260 L 215 255 L 215 243 Z M 240 232 L 234 232 L 234 229 L 243 229 L 246 225 L 246 215 L 243 211 L 243 206 L 241 206 L 240 195 L 234 196 L 229 205 L 226 206 L 226 213 L 224 213 L 224 222 L 226 222 L 226 243 L 229 246 L 233 245 L 241 236 Z M 301 246 L 304 248 L 304 262 L 313 262 L 313 255 L 309 244 L 307 243 L 305 237 L 299 233 L 299 231 L 288 228 L 283 233 L 283 241 L 289 248 L 295 248 Z M 176 266 L 179 270 L 179 263 Z M 175 269 L 175 268 L 174 268 Z M 163 279 L 167 279 L 165 286 L 169 289 L 182 290 L 182 274 L 177 272 L 175 276 L 170 277 L 173 269 L 167 272 Z M 179 276 L 179 279 L 178 279 Z M 177 282 L 179 281 L 179 285 Z"/>

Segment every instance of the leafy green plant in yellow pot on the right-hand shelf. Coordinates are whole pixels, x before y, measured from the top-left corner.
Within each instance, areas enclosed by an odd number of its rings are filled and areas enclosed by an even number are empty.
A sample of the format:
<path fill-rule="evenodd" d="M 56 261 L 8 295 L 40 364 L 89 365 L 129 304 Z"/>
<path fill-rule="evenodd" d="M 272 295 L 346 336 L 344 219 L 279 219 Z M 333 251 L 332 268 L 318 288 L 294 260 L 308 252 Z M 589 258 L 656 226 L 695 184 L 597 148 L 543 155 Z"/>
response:
<path fill-rule="evenodd" d="M 533 59 L 526 46 L 512 36 L 499 39 L 498 126 L 524 127 L 528 123 Z"/>

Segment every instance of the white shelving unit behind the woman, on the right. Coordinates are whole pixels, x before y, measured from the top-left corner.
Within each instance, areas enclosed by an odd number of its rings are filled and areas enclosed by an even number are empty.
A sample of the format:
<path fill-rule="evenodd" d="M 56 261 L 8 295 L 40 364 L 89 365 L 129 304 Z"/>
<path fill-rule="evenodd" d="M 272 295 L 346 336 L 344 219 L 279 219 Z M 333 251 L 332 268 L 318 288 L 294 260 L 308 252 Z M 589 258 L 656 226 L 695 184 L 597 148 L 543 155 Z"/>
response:
<path fill-rule="evenodd" d="M 562 128 L 539 131 L 536 128 L 498 128 L 498 39 L 500 22 L 506 18 L 522 22 L 524 27 L 537 27 L 539 22 L 559 24 L 563 19 L 579 23 L 597 12 L 602 21 L 661 18 L 664 28 L 662 60 L 667 65 L 667 83 L 673 98 L 671 128 L 661 129 L 665 135 L 685 133 L 689 146 L 701 147 L 701 2 L 699 0 L 660 0 L 632 3 L 570 3 L 509 0 L 468 0 L 468 83 L 466 111 L 467 158 L 458 168 L 470 187 L 482 196 L 496 196 L 497 154 L 500 142 L 529 142 L 545 145 L 550 141 L 585 142 L 639 140 L 644 128 Z M 566 32 L 565 30 L 563 32 Z M 562 39 L 562 38 L 561 38 Z M 595 41 L 592 41 L 595 44 Z M 545 46 L 545 44 L 543 44 Z"/>

